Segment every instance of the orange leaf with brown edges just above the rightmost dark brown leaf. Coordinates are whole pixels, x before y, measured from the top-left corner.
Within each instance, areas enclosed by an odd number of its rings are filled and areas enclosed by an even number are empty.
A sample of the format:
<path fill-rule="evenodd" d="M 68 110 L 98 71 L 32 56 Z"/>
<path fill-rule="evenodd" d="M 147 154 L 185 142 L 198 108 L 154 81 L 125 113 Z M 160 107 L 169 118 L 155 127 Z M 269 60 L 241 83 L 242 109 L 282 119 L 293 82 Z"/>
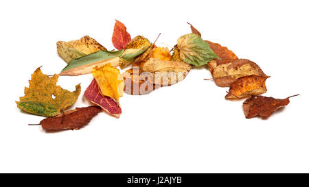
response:
<path fill-rule="evenodd" d="M 267 91 L 265 81 L 267 76 L 247 75 L 236 79 L 231 84 L 225 99 L 235 99 L 260 95 Z"/>

